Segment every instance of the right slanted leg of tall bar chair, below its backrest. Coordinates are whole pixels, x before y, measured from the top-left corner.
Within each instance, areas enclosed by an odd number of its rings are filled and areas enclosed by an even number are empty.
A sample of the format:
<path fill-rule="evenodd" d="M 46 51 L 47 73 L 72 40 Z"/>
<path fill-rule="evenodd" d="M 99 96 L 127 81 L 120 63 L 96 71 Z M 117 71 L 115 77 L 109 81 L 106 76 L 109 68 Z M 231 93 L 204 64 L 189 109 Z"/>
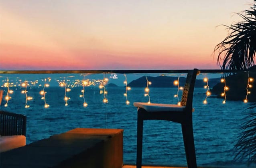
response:
<path fill-rule="evenodd" d="M 191 124 L 181 124 L 183 142 L 187 157 L 188 168 L 197 168 L 197 161 L 195 156 L 195 144 L 193 136 L 193 126 Z"/>

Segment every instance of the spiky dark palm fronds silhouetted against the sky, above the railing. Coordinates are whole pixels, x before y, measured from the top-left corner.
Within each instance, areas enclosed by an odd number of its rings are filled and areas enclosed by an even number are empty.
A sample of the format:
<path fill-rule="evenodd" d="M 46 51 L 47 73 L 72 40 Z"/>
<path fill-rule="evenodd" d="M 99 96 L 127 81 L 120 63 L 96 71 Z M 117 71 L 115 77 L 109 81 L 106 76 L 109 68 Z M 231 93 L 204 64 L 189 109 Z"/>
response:
<path fill-rule="evenodd" d="M 238 13 L 243 21 L 225 26 L 228 36 L 214 48 L 221 69 L 246 70 L 254 66 L 256 56 L 256 0 L 249 10 Z"/>

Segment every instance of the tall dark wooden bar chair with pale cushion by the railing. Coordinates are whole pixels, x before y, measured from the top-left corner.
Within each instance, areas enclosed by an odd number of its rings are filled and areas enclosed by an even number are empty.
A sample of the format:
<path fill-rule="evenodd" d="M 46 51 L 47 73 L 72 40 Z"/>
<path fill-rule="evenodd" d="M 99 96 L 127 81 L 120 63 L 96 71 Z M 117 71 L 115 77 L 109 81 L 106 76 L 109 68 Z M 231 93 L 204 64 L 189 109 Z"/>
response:
<path fill-rule="evenodd" d="M 134 106 L 138 107 L 136 158 L 137 168 L 141 168 L 142 165 L 143 120 L 168 120 L 180 123 L 188 168 L 197 168 L 192 125 L 192 103 L 195 79 L 199 73 L 200 71 L 197 69 L 189 70 L 180 106 L 176 104 L 148 104 L 142 102 L 134 102 Z"/>

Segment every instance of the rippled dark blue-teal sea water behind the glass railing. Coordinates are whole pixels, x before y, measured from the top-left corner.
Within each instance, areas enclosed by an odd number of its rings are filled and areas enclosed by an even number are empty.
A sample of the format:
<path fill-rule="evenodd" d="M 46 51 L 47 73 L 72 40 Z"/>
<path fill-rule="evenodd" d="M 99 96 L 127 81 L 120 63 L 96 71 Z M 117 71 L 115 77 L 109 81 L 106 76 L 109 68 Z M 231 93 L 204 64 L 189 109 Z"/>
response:
<path fill-rule="evenodd" d="M 28 88 L 30 108 L 24 108 L 25 96 L 20 88 L 14 90 L 8 107 L 1 110 L 27 116 L 26 143 L 48 138 L 73 128 L 120 128 L 124 129 L 124 164 L 136 163 L 136 107 L 133 102 L 147 102 L 144 88 L 132 88 L 128 91 L 130 105 L 126 105 L 124 87 L 108 87 L 108 104 L 104 104 L 103 94 L 98 87 L 85 88 L 83 107 L 80 98 L 81 87 L 72 88 L 67 96 L 71 99 L 65 106 L 64 88 L 49 87 L 45 90 L 46 101 L 50 105 L 44 108 L 39 88 Z M 209 97 L 203 104 L 205 89 L 195 88 L 193 106 L 193 128 L 197 164 L 199 166 L 246 167 L 246 161 L 234 161 L 234 145 L 237 142 L 240 124 L 250 105 L 243 102 L 227 101 Z M 177 88 L 150 88 L 150 100 L 153 103 L 177 104 Z M 5 93 L 4 93 L 5 94 Z M 181 95 L 179 96 L 181 97 Z M 144 122 L 143 164 L 186 166 L 186 156 L 180 124 L 168 121 L 151 120 Z M 256 167 L 251 165 L 251 167 Z"/>

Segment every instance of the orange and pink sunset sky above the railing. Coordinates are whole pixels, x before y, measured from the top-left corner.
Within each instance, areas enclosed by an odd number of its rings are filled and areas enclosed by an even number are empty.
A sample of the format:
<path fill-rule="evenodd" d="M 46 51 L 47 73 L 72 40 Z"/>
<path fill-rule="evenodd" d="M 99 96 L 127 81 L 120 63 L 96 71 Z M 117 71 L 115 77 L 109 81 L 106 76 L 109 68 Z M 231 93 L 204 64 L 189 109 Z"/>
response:
<path fill-rule="evenodd" d="M 218 25 L 252 3 L 1 0 L 0 70 L 219 69 Z"/>

